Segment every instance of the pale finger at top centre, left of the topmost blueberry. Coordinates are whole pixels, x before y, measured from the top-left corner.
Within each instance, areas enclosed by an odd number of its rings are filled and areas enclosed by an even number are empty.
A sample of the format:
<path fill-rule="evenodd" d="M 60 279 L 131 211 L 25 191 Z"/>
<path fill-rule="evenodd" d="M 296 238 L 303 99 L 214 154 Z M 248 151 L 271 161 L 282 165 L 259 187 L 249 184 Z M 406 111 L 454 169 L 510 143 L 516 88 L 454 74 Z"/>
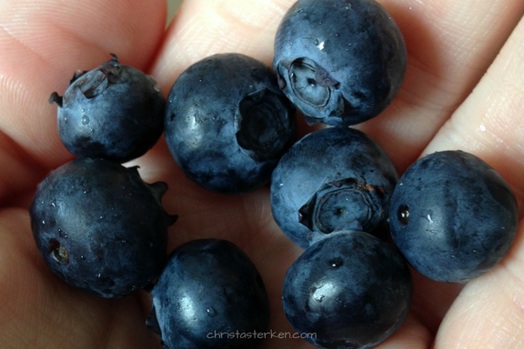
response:
<path fill-rule="evenodd" d="M 168 28 L 152 74 L 167 93 L 176 76 L 207 55 L 236 52 L 270 65 L 277 25 L 294 2 L 185 1 Z"/>

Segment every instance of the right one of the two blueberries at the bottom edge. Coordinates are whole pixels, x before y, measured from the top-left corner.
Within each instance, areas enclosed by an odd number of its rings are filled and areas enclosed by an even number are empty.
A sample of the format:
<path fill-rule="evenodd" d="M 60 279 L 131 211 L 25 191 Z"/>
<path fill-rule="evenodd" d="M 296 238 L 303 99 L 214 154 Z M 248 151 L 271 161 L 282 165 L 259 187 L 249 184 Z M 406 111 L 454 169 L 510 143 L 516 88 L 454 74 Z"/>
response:
<path fill-rule="evenodd" d="M 377 237 L 340 231 L 311 244 L 287 270 L 289 323 L 327 349 L 371 348 L 398 330 L 412 296 L 408 264 Z"/>

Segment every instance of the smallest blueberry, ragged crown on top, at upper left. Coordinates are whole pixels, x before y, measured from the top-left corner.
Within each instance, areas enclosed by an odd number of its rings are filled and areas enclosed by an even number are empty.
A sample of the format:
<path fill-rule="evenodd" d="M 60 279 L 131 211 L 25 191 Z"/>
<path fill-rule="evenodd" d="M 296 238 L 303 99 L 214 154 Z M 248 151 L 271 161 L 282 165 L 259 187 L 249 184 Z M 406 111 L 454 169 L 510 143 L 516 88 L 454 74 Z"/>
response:
<path fill-rule="evenodd" d="M 126 162 L 146 154 L 164 129 L 166 101 L 153 77 L 116 55 L 89 72 L 77 72 L 58 105 L 58 131 L 69 152 L 79 158 Z"/>

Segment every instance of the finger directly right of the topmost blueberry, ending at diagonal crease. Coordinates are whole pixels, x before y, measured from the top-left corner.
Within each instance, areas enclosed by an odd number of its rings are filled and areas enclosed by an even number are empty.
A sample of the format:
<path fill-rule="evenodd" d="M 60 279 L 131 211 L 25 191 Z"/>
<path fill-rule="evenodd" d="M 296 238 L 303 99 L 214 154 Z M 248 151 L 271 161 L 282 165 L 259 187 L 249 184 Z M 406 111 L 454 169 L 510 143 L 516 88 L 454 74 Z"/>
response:
<path fill-rule="evenodd" d="M 360 125 L 403 172 L 479 82 L 524 12 L 524 1 L 382 0 L 408 48 L 388 109 Z"/>

